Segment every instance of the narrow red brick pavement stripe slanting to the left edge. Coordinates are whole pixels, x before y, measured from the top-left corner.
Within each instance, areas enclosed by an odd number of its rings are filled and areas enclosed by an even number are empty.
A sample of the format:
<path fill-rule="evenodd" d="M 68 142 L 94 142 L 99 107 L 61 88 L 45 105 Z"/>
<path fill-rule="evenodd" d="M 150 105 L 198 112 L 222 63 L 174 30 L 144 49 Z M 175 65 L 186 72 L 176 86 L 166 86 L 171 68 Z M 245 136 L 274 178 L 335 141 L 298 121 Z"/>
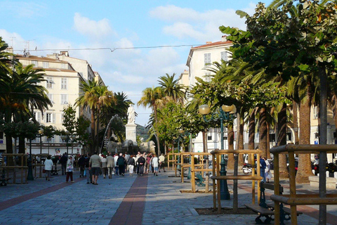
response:
<path fill-rule="evenodd" d="M 81 179 L 74 179 L 74 181 L 78 182 L 78 181 L 81 181 Z M 64 188 L 65 186 L 69 186 L 71 184 L 74 184 L 74 183 L 61 183 L 61 184 L 57 184 L 55 186 L 44 188 L 40 191 L 35 191 L 35 192 L 27 194 L 27 195 L 22 195 L 22 196 L 17 197 L 17 198 L 8 199 L 8 200 L 0 203 L 0 211 L 6 210 L 9 207 L 12 207 L 14 205 L 18 205 L 18 204 L 23 203 L 27 200 L 31 200 L 33 198 L 37 198 L 39 196 L 46 195 L 46 194 L 51 193 L 53 191 L 58 191 L 60 188 Z"/>

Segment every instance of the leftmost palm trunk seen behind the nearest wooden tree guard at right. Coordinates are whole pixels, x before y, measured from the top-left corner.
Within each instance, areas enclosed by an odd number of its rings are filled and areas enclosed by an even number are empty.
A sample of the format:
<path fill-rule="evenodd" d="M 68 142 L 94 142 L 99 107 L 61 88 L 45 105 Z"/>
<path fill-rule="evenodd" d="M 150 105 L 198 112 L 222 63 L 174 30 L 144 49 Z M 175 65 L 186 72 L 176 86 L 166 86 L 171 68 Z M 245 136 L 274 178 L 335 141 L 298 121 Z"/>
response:
<path fill-rule="evenodd" d="M 286 103 L 283 103 L 282 110 L 277 114 L 277 146 L 286 145 Z M 279 178 L 289 178 L 286 169 L 286 154 L 279 154 Z"/>

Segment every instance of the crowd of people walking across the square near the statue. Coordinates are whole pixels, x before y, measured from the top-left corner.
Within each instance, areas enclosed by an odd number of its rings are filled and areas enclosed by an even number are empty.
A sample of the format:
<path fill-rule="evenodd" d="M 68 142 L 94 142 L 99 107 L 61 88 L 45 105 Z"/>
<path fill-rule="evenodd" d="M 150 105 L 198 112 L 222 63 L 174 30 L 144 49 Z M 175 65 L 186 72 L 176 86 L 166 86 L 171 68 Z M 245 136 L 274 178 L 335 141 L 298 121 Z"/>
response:
<path fill-rule="evenodd" d="M 138 176 L 144 176 L 144 174 L 152 173 L 154 176 L 158 176 L 158 172 L 161 169 L 165 171 L 164 167 L 165 157 L 161 154 L 159 157 L 155 153 L 140 153 L 137 155 L 129 155 L 126 153 L 110 153 L 106 155 L 98 154 L 95 152 L 93 155 L 89 153 L 81 155 L 77 161 L 79 167 L 79 177 L 86 176 L 86 184 L 98 185 L 98 176 L 103 175 L 103 179 L 112 179 L 112 176 L 124 176 L 126 172 L 129 176 L 138 174 Z M 65 181 L 74 182 L 74 157 L 64 153 L 60 157 L 60 165 L 62 175 L 66 175 Z M 50 181 L 51 170 L 53 168 L 53 161 L 48 156 L 44 164 L 46 171 L 46 180 Z"/>

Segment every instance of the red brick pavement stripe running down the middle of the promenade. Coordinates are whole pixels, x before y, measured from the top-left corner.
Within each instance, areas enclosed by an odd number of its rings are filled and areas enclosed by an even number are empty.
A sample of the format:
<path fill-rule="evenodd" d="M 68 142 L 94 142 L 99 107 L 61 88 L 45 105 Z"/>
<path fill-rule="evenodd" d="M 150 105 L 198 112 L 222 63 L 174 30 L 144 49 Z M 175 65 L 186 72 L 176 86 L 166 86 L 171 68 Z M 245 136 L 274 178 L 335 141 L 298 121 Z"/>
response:
<path fill-rule="evenodd" d="M 109 225 L 142 224 L 147 190 L 147 176 L 138 176 L 133 182 Z"/>

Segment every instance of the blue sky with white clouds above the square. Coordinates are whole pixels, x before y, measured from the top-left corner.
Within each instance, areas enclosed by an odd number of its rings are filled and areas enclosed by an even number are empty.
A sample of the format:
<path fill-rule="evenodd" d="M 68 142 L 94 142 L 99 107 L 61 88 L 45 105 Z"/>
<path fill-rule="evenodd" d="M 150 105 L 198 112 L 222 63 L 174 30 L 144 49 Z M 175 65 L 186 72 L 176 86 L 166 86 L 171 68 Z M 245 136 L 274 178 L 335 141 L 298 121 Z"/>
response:
<path fill-rule="evenodd" d="M 145 125 L 151 110 L 137 106 L 142 91 L 159 86 L 166 73 L 178 78 L 188 70 L 191 47 L 220 41 L 221 25 L 246 30 L 235 11 L 252 15 L 258 2 L 0 0 L 0 37 L 14 53 L 26 49 L 46 56 L 67 50 L 87 60 L 110 91 L 123 91 L 136 104 L 136 123 Z"/>

